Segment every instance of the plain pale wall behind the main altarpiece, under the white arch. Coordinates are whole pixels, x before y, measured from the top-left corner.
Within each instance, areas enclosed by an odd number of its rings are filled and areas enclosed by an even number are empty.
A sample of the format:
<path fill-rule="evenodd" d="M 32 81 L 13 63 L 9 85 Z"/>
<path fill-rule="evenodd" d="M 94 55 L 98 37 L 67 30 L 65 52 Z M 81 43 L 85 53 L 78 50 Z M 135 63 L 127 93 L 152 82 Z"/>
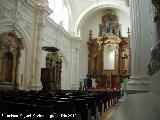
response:
<path fill-rule="evenodd" d="M 106 8 L 107 9 L 107 8 Z M 81 32 L 81 49 L 80 49 L 80 79 L 85 79 L 88 73 L 88 48 L 87 41 L 89 40 L 89 31 L 92 30 L 93 38 L 98 37 L 99 24 L 102 24 L 103 12 L 106 9 L 98 10 L 91 13 L 83 20 L 80 25 Z M 121 10 L 115 9 L 116 15 L 119 17 L 121 24 L 122 36 L 127 36 L 128 27 L 130 27 L 129 15 Z"/>

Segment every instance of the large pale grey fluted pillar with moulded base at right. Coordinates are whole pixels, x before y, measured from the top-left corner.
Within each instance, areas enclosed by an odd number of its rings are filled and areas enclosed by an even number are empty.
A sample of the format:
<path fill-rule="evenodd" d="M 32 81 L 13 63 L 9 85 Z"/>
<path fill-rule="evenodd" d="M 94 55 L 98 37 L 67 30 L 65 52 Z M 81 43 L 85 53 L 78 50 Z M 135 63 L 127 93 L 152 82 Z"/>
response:
<path fill-rule="evenodd" d="M 147 92 L 150 89 L 148 64 L 154 43 L 151 40 L 150 1 L 130 0 L 131 18 L 131 78 L 127 92 Z M 152 26 L 153 27 L 153 26 Z"/>

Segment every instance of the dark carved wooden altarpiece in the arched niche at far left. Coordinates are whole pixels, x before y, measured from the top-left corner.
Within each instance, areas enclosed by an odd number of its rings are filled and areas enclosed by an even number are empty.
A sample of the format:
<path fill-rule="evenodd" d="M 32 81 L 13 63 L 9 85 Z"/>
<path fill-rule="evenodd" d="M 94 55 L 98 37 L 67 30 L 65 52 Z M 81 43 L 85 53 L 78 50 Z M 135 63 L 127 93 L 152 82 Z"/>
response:
<path fill-rule="evenodd" d="M 22 40 L 15 31 L 0 35 L 0 84 L 4 88 L 18 88 L 17 71 L 22 49 Z"/>

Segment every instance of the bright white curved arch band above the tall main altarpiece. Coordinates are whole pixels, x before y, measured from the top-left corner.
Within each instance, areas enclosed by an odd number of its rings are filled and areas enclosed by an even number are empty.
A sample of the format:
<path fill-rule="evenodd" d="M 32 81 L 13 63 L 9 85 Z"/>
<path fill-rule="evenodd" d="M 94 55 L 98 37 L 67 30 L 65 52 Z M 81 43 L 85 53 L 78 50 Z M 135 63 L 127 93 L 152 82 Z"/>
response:
<path fill-rule="evenodd" d="M 74 26 L 74 33 L 77 33 L 75 35 L 79 35 L 78 37 L 80 37 L 79 27 L 83 23 L 83 20 L 87 16 L 89 16 L 91 13 L 93 13 L 97 10 L 107 8 L 107 7 L 119 9 L 119 10 L 125 12 L 126 14 L 130 15 L 129 7 L 127 7 L 125 4 L 123 4 L 123 2 L 120 3 L 120 2 L 109 0 L 106 2 L 101 2 L 99 4 L 95 3 L 91 6 L 89 6 L 88 8 L 84 9 L 77 17 L 76 22 L 75 22 L 75 26 Z"/>

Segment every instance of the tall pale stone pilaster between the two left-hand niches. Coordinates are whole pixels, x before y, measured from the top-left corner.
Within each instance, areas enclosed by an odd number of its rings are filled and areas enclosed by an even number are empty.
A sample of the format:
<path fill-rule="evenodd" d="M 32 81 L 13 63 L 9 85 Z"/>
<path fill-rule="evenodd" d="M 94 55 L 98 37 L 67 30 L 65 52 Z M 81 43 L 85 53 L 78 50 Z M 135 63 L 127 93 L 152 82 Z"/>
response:
<path fill-rule="evenodd" d="M 41 84 L 41 59 L 42 59 L 42 40 L 44 36 L 45 18 L 49 16 L 50 11 L 47 7 L 38 6 L 35 17 L 34 32 L 32 38 L 32 58 L 31 58 L 31 79 L 28 83 L 28 89 L 39 90 Z"/>

